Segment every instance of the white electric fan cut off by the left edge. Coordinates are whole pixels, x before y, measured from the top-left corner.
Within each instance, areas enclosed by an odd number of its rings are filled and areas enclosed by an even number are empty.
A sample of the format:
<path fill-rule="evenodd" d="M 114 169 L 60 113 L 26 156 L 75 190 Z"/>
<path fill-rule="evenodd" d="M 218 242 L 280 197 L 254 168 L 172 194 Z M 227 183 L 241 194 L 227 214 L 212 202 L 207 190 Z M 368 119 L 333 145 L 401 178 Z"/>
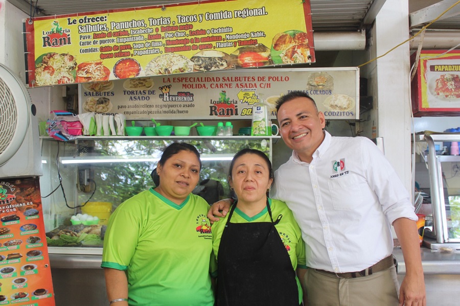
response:
<path fill-rule="evenodd" d="M 0 64 L 0 179 L 42 175 L 35 113 L 24 84 Z"/>

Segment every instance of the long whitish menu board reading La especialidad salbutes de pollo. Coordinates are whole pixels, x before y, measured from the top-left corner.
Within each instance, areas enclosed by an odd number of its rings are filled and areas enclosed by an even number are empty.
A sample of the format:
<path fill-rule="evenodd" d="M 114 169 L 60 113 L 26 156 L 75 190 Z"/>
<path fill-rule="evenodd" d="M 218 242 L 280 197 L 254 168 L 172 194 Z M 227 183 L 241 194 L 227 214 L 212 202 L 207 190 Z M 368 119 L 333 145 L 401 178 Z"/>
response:
<path fill-rule="evenodd" d="M 128 120 L 251 119 L 263 102 L 275 119 L 275 101 L 292 90 L 308 93 L 326 119 L 359 119 L 359 69 L 279 68 L 144 77 L 79 86 L 79 113 L 122 113 Z"/>

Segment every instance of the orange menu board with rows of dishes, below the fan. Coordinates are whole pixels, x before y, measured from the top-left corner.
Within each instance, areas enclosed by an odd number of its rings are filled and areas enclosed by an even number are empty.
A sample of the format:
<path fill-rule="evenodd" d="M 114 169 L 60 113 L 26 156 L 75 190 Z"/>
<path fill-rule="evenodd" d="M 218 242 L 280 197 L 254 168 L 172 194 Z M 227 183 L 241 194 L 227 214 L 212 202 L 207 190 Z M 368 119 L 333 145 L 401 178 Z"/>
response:
<path fill-rule="evenodd" d="M 38 177 L 0 180 L 0 305 L 54 306 Z"/>

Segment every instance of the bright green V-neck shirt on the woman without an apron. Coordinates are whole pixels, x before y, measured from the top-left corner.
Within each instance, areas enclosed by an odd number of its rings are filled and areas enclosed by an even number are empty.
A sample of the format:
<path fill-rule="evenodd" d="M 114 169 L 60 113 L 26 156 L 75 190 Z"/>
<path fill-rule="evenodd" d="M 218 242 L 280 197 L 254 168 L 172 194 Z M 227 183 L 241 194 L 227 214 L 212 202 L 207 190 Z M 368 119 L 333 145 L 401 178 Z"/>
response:
<path fill-rule="evenodd" d="M 212 306 L 209 205 L 190 194 L 177 205 L 153 189 L 110 216 L 103 268 L 126 271 L 129 305 Z"/>

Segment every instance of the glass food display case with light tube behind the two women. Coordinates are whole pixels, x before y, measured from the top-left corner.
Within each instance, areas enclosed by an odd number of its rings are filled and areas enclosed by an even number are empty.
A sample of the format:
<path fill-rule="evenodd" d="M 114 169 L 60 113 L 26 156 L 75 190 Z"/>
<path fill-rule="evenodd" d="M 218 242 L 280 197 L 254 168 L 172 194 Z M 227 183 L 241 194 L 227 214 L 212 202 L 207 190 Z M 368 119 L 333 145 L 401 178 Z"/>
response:
<path fill-rule="evenodd" d="M 162 149 L 172 142 L 190 143 L 200 152 L 203 167 L 193 193 L 212 204 L 230 196 L 226 183 L 228 167 L 239 150 L 259 149 L 272 160 L 272 145 L 279 138 L 79 136 L 60 142 L 40 137 L 43 163 L 40 189 L 51 258 L 62 261 L 69 257 L 58 254 L 101 255 L 110 212 L 128 198 L 155 186 L 150 174 Z M 72 216 L 84 213 L 98 217 L 98 224 L 72 224 Z M 62 234 L 70 238 L 61 237 Z M 78 263 L 81 256 L 72 258 L 73 263 Z"/>

